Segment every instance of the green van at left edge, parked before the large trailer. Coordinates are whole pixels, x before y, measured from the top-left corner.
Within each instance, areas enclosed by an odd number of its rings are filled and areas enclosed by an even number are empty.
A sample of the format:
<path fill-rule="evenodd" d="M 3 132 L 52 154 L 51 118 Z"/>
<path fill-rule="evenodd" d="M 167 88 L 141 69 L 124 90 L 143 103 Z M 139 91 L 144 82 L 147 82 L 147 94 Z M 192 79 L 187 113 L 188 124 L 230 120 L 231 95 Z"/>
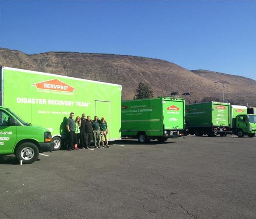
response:
<path fill-rule="evenodd" d="M 0 155 L 15 154 L 23 164 L 31 164 L 53 146 L 48 129 L 27 123 L 10 108 L 0 106 Z"/>

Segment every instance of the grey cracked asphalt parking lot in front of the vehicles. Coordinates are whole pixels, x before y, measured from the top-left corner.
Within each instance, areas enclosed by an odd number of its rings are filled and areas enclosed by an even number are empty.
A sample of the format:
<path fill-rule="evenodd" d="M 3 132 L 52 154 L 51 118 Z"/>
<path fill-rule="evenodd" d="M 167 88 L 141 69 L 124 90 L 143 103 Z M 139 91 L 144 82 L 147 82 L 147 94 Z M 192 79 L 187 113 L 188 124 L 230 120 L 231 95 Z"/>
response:
<path fill-rule="evenodd" d="M 256 218 L 256 138 L 0 157 L 0 218 Z"/>

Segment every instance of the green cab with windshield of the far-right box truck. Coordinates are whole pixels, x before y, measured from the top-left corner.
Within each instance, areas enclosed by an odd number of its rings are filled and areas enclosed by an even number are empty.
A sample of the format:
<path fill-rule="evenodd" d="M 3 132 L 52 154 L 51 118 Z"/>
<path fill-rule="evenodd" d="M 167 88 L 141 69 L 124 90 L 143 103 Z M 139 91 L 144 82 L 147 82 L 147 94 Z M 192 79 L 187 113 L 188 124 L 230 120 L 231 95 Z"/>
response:
<path fill-rule="evenodd" d="M 240 138 L 244 135 L 253 138 L 256 133 L 256 115 L 237 115 L 236 128 L 233 133 Z"/>

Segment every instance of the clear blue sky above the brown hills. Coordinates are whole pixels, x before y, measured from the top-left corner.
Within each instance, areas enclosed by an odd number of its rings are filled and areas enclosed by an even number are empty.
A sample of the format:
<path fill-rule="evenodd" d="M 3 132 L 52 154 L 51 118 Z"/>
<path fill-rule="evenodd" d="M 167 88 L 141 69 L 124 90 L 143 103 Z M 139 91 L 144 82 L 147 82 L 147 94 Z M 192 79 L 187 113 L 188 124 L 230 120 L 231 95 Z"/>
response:
<path fill-rule="evenodd" d="M 0 46 L 159 58 L 256 80 L 256 1 L 0 1 Z"/>

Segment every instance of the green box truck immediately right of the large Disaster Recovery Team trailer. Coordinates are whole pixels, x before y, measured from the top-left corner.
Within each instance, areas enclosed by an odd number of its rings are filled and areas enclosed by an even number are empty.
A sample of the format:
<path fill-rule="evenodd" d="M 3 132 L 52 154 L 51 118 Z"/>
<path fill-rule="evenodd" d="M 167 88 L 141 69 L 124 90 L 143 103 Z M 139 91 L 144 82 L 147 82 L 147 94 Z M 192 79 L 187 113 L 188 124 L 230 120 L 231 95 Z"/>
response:
<path fill-rule="evenodd" d="M 185 135 L 185 99 L 158 97 L 122 101 L 121 136 L 164 142 Z"/>

